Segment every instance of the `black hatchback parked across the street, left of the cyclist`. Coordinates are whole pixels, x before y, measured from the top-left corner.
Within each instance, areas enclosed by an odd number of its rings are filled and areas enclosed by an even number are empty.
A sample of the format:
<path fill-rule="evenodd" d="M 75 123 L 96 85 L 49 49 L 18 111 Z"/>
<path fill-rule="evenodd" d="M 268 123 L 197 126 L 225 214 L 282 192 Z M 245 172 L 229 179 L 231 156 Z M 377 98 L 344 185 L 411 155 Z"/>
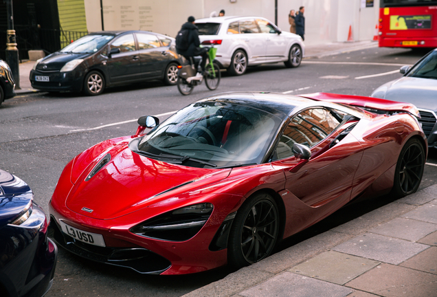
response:
<path fill-rule="evenodd" d="M 30 83 L 42 91 L 102 94 L 106 87 L 164 80 L 177 83 L 175 39 L 144 31 L 96 32 L 36 61 Z"/>

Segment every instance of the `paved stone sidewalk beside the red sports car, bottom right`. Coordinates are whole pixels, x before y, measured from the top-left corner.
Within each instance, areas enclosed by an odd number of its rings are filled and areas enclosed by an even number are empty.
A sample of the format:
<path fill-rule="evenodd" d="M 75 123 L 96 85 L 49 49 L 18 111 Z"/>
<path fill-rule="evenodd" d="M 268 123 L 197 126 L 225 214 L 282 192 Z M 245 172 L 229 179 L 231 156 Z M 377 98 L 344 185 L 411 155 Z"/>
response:
<path fill-rule="evenodd" d="M 437 296 L 437 185 L 184 297 Z"/>

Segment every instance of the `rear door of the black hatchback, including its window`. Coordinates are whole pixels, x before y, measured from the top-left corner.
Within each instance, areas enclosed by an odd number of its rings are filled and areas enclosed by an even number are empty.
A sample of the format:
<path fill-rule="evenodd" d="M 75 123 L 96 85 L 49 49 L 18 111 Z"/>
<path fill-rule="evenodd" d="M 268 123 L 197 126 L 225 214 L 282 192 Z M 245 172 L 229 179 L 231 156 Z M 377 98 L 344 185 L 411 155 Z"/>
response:
<path fill-rule="evenodd" d="M 162 46 L 155 34 L 136 33 L 136 36 L 142 78 L 161 76 L 170 58 L 168 47 Z"/>

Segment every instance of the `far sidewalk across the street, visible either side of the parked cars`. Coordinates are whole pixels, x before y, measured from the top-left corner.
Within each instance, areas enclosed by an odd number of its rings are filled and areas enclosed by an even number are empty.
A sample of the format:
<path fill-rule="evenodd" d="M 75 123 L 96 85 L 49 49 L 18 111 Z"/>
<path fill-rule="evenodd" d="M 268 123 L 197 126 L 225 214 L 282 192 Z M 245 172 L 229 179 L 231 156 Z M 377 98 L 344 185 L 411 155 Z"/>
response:
<path fill-rule="evenodd" d="M 304 58 L 317 58 L 321 56 L 329 56 L 333 54 L 340 54 L 341 52 L 363 50 L 368 47 L 377 47 L 376 41 L 357 41 L 357 42 L 345 42 L 345 43 L 324 43 L 320 45 L 309 45 L 306 47 Z M 30 85 L 29 74 L 30 70 L 34 67 L 35 61 L 23 61 L 20 63 L 20 87 L 16 89 L 17 95 L 32 94 L 38 92 Z"/>

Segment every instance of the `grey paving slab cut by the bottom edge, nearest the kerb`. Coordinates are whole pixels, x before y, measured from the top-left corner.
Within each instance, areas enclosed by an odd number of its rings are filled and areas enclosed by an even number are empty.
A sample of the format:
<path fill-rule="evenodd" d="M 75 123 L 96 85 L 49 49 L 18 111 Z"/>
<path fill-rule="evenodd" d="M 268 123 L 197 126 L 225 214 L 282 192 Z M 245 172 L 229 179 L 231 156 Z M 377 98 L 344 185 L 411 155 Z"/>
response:
<path fill-rule="evenodd" d="M 247 289 L 238 295 L 244 297 L 346 297 L 350 293 L 352 293 L 352 289 L 348 287 L 319 281 L 315 278 L 309 278 L 291 272 L 283 272 L 282 274 L 278 274 L 277 276 L 270 278 L 268 281 Z"/>

